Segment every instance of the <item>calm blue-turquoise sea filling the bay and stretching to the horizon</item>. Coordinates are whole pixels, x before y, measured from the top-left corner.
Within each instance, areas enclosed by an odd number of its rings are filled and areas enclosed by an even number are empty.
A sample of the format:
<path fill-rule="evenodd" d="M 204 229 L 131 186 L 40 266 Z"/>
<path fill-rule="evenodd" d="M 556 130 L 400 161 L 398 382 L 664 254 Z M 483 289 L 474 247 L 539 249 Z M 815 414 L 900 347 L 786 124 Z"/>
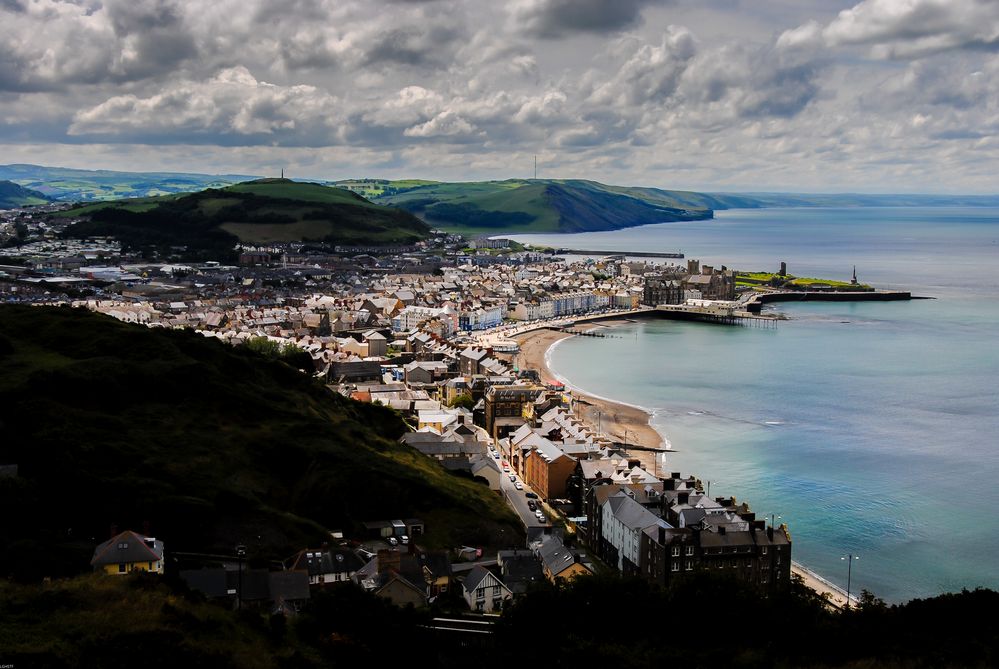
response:
<path fill-rule="evenodd" d="M 933 298 L 779 303 L 773 329 L 635 321 L 564 340 L 550 362 L 652 411 L 675 451 L 665 470 L 787 523 L 794 559 L 842 587 L 849 571 L 853 593 L 999 589 L 999 209 L 746 209 L 514 238 L 844 281 L 856 266 Z"/>

